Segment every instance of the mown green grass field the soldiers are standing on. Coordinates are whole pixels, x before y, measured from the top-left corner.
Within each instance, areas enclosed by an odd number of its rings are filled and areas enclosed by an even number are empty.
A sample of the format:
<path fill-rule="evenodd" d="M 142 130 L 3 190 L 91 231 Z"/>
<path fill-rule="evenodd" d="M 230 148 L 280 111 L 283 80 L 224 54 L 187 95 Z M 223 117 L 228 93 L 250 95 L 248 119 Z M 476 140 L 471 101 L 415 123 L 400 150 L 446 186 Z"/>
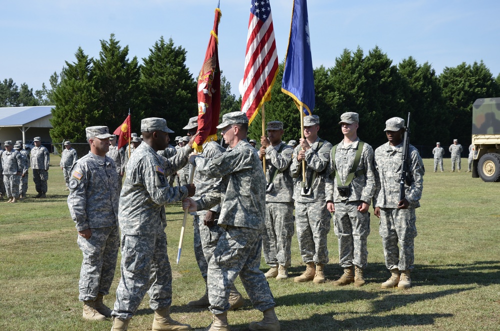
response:
<path fill-rule="evenodd" d="M 465 168 L 466 161 L 462 159 Z M 81 253 L 58 162 L 57 156 L 52 156 L 47 198 L 32 198 L 36 192 L 30 173 L 27 199 L 16 204 L 0 202 L 0 330 L 111 328 L 110 320 L 89 322 L 81 318 Z M 342 273 L 333 226 L 328 235 L 328 281 L 320 285 L 295 284 L 293 276 L 304 270 L 304 264 L 294 236 L 291 278 L 269 281 L 281 330 L 500 329 L 500 183 L 471 178 L 463 169 L 434 173 L 432 160 L 425 159 L 424 163 L 427 172 L 422 206 L 417 209 L 413 287 L 404 291 L 380 289 L 380 283 L 390 274 L 383 262 L 378 219 L 373 215 L 367 284 L 361 288 L 332 285 L 332 280 Z M 445 167 L 449 171 L 449 159 Z M 173 273 L 171 312 L 174 319 L 202 328 L 211 321 L 209 311 L 186 305 L 204 292 L 192 252 L 190 222 L 181 261 L 175 264 L 182 214 L 179 203 L 166 209 Z M 261 267 L 267 270 L 263 259 Z M 110 307 L 118 268 L 110 295 L 104 297 Z M 246 304 L 238 311 L 230 311 L 228 320 L 233 330 L 246 330 L 250 321 L 261 318 L 261 313 L 251 308 L 239 279 L 236 286 L 243 292 Z M 146 295 L 129 330 L 150 330 L 152 318 Z"/>

